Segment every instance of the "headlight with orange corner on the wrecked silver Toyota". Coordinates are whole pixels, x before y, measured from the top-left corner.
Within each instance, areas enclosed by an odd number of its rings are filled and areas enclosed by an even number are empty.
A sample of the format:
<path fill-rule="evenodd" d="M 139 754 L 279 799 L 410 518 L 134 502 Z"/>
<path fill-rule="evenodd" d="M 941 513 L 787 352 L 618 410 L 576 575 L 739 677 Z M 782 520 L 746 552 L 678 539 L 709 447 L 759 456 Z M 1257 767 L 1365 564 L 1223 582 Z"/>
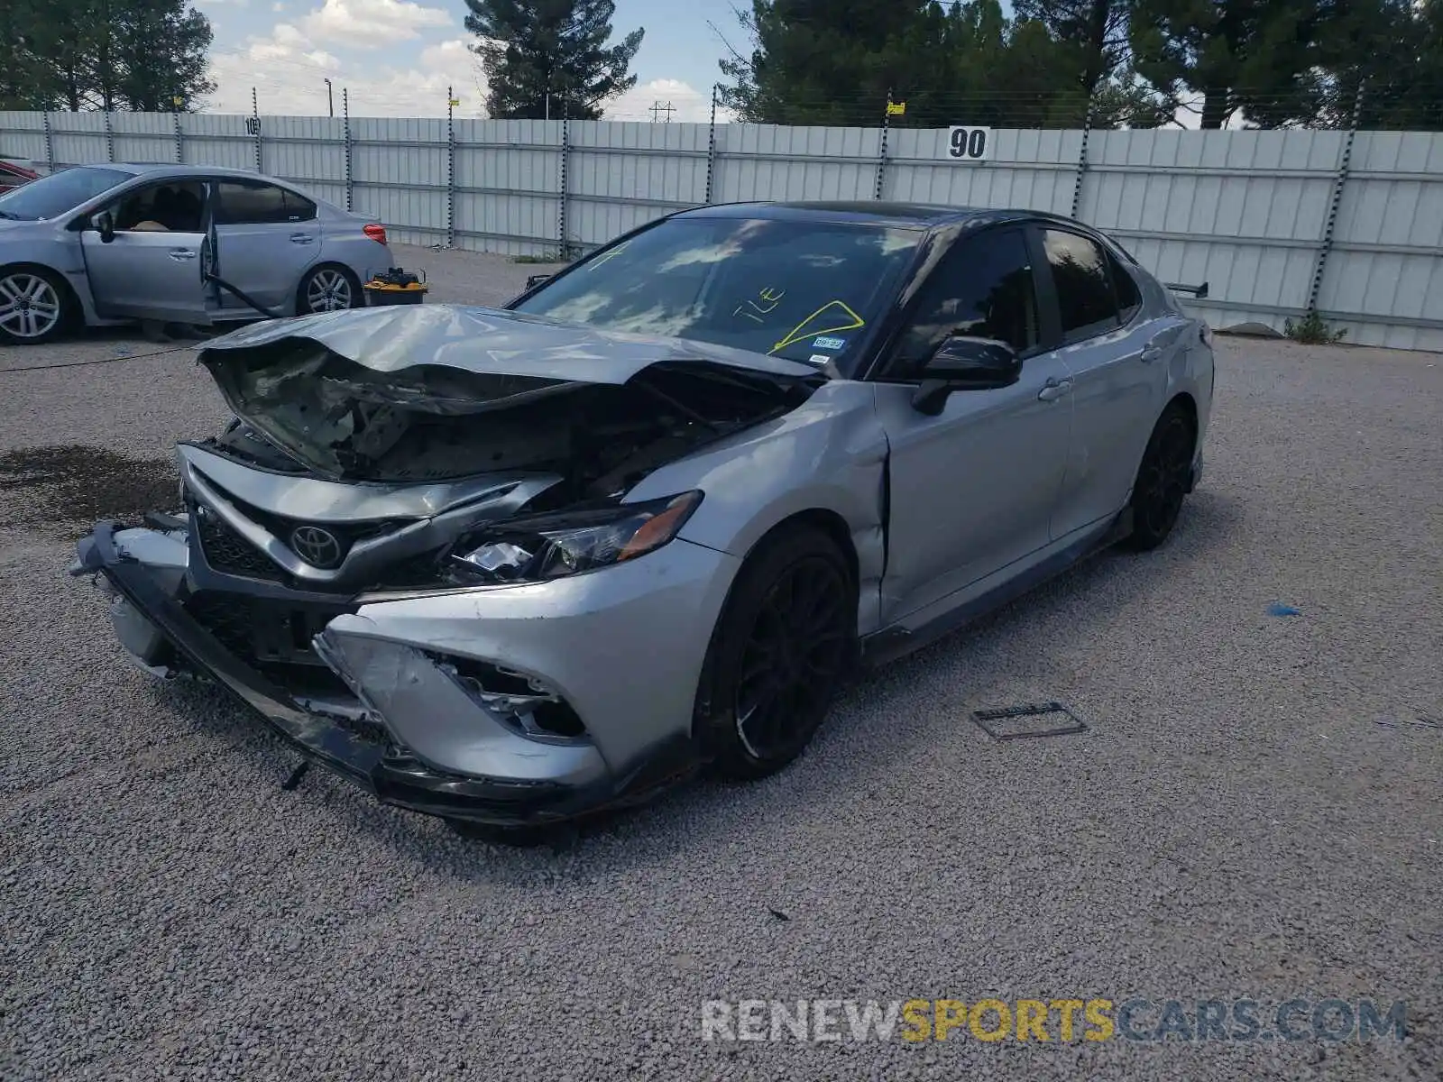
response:
<path fill-rule="evenodd" d="M 700 492 L 496 522 L 459 544 L 449 560 L 459 583 L 561 579 L 635 560 L 671 541 L 701 503 Z"/>

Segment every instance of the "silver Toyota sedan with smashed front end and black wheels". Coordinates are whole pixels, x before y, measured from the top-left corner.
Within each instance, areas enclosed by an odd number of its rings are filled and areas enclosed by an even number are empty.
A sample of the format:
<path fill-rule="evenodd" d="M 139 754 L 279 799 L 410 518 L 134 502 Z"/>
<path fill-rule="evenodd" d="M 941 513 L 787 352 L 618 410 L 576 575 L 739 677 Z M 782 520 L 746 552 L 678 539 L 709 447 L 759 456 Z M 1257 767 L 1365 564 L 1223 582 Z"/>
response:
<path fill-rule="evenodd" d="M 1163 544 L 1214 388 L 1206 326 L 1107 237 L 887 203 L 685 211 L 504 310 L 201 361 L 235 421 L 72 573 L 153 675 L 488 834 L 769 775 L 860 665 Z"/>

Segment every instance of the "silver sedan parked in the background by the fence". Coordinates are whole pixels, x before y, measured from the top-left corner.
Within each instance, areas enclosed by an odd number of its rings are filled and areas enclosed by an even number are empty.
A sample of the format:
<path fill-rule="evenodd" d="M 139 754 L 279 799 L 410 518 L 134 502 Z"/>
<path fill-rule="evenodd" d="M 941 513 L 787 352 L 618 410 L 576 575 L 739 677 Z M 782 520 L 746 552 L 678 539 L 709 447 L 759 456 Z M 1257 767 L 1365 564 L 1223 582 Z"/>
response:
<path fill-rule="evenodd" d="M 0 342 L 361 307 L 390 265 L 380 222 L 274 177 L 75 166 L 0 195 Z"/>

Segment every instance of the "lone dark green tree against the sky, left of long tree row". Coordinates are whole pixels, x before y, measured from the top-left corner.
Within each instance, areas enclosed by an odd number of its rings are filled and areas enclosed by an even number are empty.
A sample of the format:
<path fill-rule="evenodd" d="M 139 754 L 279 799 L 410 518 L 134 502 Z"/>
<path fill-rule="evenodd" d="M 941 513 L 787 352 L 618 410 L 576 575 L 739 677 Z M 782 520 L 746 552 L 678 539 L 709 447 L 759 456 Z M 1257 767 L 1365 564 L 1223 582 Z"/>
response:
<path fill-rule="evenodd" d="M 644 32 L 608 46 L 613 0 L 466 0 L 466 7 L 492 117 L 599 120 L 608 101 L 636 85 L 629 69 Z"/>

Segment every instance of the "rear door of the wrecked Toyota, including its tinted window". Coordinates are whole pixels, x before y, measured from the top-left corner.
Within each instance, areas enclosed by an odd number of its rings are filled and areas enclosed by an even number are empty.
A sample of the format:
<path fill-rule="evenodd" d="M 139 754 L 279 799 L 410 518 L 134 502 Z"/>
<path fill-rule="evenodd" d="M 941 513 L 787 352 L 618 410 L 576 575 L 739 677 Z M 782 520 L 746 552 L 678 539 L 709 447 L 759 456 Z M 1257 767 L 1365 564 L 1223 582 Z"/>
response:
<path fill-rule="evenodd" d="M 1137 283 L 1104 245 L 1063 225 L 1035 228 L 1043 296 L 1056 304 L 1072 372 L 1072 447 L 1052 522 L 1061 538 L 1127 503 L 1162 411 L 1170 339 L 1141 317 Z"/>

